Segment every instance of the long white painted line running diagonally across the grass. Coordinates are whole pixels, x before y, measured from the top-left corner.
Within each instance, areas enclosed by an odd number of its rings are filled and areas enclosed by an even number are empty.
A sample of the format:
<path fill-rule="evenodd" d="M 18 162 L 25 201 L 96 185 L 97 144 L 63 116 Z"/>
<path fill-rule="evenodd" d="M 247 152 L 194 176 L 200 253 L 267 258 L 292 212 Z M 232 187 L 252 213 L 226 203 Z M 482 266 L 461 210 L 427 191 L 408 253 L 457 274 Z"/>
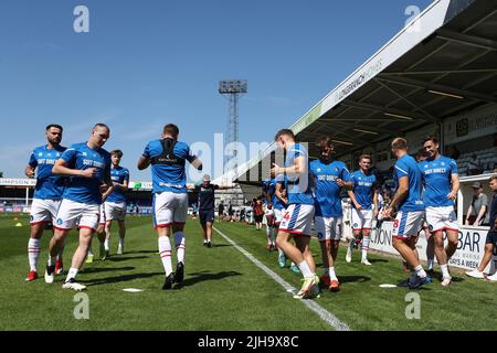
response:
<path fill-rule="evenodd" d="M 245 255 L 252 263 L 254 263 L 258 268 L 261 268 L 267 276 L 269 276 L 273 280 L 279 284 L 287 292 L 292 295 L 297 293 L 297 289 L 279 277 L 275 271 L 268 268 L 266 265 L 256 259 L 252 254 L 247 253 L 243 247 L 237 245 L 235 242 L 230 239 L 224 233 L 219 231 L 216 227 L 213 227 L 215 232 L 218 232 L 228 243 L 233 245 L 240 253 Z M 310 310 L 316 312 L 319 318 L 321 318 L 326 323 L 334 327 L 337 331 L 351 331 L 350 328 L 342 321 L 340 321 L 337 317 L 335 317 L 331 312 L 316 303 L 314 300 L 300 300 L 304 304 L 306 304 Z"/>

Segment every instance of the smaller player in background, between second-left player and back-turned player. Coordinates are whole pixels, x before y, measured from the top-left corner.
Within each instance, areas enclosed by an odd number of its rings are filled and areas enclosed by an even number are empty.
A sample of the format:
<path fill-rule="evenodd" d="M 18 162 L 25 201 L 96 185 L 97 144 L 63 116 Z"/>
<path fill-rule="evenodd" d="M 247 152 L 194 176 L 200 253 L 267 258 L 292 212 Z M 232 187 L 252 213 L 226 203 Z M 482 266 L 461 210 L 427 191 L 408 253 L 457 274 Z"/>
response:
<path fill-rule="evenodd" d="M 110 169 L 110 178 L 113 180 L 113 192 L 107 196 L 104 203 L 105 208 L 105 254 L 108 256 L 110 239 L 110 226 L 113 221 L 117 221 L 119 227 L 119 245 L 117 247 L 117 254 L 124 253 L 124 239 L 126 236 L 126 192 L 128 191 L 129 183 L 129 170 L 120 167 L 120 159 L 123 158 L 121 150 L 110 151 L 110 159 L 113 162 Z"/>

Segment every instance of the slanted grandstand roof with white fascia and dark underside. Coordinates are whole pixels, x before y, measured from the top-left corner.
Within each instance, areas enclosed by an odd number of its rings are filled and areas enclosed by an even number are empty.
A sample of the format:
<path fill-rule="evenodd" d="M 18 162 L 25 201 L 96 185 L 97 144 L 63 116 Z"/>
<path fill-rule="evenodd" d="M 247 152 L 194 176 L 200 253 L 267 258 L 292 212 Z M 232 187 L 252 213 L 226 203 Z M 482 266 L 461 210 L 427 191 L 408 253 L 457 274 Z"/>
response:
<path fill-rule="evenodd" d="M 289 128 L 310 157 L 322 136 L 343 156 L 488 104 L 497 104 L 497 1 L 437 0 Z M 275 149 L 231 180 L 253 180 L 243 175 Z"/>

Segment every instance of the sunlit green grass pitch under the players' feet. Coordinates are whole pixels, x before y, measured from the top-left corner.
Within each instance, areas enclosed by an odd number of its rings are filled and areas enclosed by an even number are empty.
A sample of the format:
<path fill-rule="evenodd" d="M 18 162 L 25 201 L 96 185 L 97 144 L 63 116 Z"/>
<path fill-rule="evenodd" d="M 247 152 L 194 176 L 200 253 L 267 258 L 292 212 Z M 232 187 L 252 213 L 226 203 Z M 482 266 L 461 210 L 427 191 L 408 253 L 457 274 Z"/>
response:
<path fill-rule="evenodd" d="M 18 222 L 23 226 L 15 227 Z M 50 232 L 42 239 L 41 277 L 25 282 L 28 216 L 0 215 L 0 330 L 334 330 L 215 232 L 213 247 L 203 247 L 198 221 L 189 221 L 186 226 L 182 287 L 161 290 L 163 269 L 151 220 L 128 216 L 127 226 L 124 255 L 115 255 L 117 225 L 114 225 L 110 258 L 85 264 L 78 274 L 78 281 L 88 286 L 89 304 L 89 319 L 78 320 L 74 317 L 78 304 L 74 301 L 76 292 L 61 288 L 65 275 L 52 285 L 43 280 Z M 265 249 L 265 231 L 236 223 L 215 226 L 295 288 L 300 286 L 300 276 L 288 268 L 278 268 L 277 253 Z M 73 231 L 64 253 L 65 269 L 76 243 Z M 316 240 L 311 242 L 311 250 L 320 274 Z M 461 271 L 453 274 L 454 282 L 448 288 L 434 279 L 415 291 L 421 299 L 420 319 L 408 319 L 405 309 L 411 302 L 405 296 L 410 290 L 379 287 L 406 278 L 401 261 L 371 254 L 372 266 L 366 267 L 359 256 L 356 252 L 352 263 L 346 264 L 342 247 L 336 266 L 340 291 L 324 290 L 315 300 L 351 330 L 497 330 L 495 284 L 467 278 Z M 125 288 L 144 291 L 125 292 Z"/>

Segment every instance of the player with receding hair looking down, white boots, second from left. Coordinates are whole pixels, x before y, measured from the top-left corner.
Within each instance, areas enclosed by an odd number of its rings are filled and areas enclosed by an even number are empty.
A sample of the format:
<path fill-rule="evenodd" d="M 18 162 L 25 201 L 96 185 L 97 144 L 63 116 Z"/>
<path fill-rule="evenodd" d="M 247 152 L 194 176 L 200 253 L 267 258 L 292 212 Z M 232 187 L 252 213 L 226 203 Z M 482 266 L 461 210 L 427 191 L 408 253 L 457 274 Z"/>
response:
<path fill-rule="evenodd" d="M 54 224 L 54 235 L 50 240 L 50 257 L 45 271 L 45 281 L 54 281 L 54 260 L 65 237 L 76 226 L 80 228 L 80 246 L 74 253 L 71 269 L 62 288 L 84 290 L 85 286 L 76 282 L 76 275 L 82 267 L 93 233 L 98 226 L 98 212 L 102 204 L 102 188 L 112 188 L 110 154 L 102 147 L 110 136 L 105 124 L 97 124 L 85 143 L 71 146 L 55 162 L 52 172 L 71 176 L 64 191 L 63 200 Z"/>

